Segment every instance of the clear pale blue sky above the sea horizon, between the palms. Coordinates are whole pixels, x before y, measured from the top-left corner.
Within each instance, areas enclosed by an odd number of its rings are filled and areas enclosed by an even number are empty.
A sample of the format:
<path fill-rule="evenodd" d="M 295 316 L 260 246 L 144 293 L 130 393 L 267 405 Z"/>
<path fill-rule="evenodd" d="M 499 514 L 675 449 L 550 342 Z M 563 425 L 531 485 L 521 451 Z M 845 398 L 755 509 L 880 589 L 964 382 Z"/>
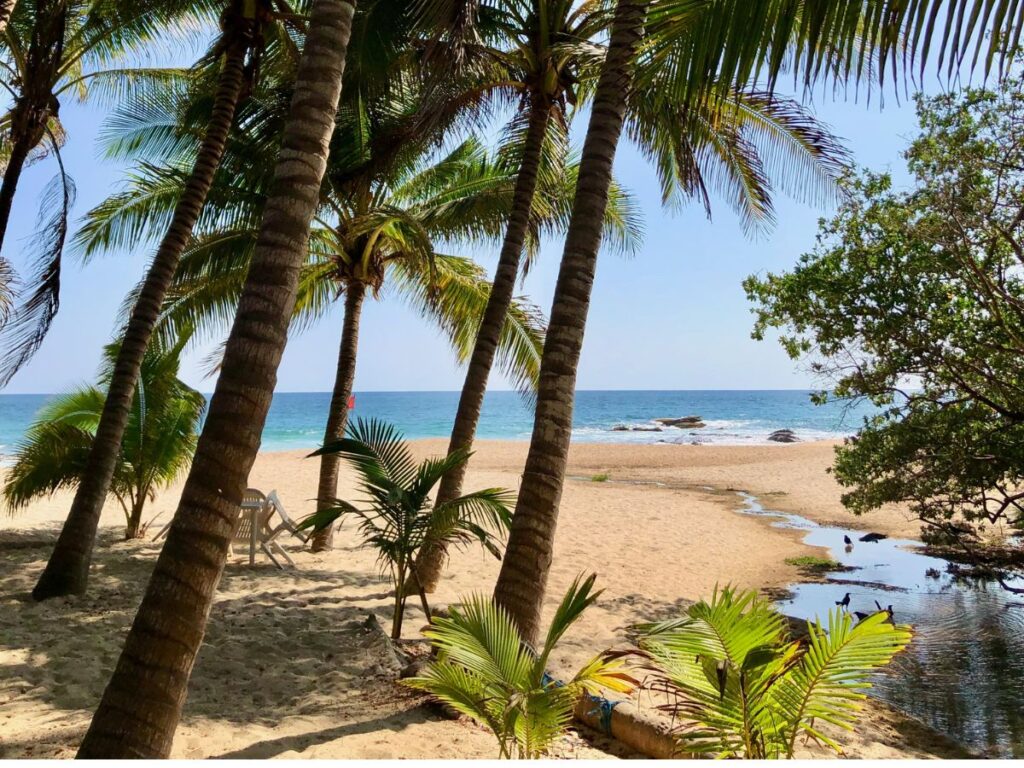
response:
<path fill-rule="evenodd" d="M 884 109 L 818 100 L 817 117 L 844 139 L 858 165 L 902 169 L 900 152 L 914 135 L 913 105 L 887 94 Z M 117 188 L 123 171 L 103 161 L 96 143 L 103 113 L 77 104 L 61 109 L 70 134 L 65 161 L 78 184 L 80 216 Z M 577 133 L 585 127 L 578 121 Z M 695 204 L 675 213 L 662 210 L 653 174 L 634 147 L 624 142 L 616 175 L 644 212 L 646 234 L 635 257 L 602 254 L 591 303 L 580 369 L 581 389 L 782 389 L 814 385 L 773 341 L 750 338 L 752 315 L 740 282 L 752 272 L 781 270 L 808 250 L 817 220 L 826 210 L 783 196 L 776 200 L 778 223 L 756 239 L 744 236 L 738 219 L 715 200 L 708 221 Z M 52 161 L 28 169 L 18 188 L 5 256 L 24 265 L 40 193 L 52 177 Z M 547 242 L 524 291 L 548 310 L 558 270 L 561 242 Z M 82 266 L 70 254 L 60 312 L 49 337 L 6 392 L 54 392 L 94 376 L 102 344 L 125 293 L 139 280 L 151 247 L 94 259 Z M 497 247 L 472 255 L 488 269 Z M 332 386 L 340 306 L 317 327 L 289 342 L 278 391 L 321 391 Z M 203 391 L 213 381 L 202 376 L 209 349 L 190 354 L 183 378 Z M 443 338 L 397 300 L 369 302 L 361 325 L 356 391 L 453 390 L 462 371 Z M 496 374 L 492 386 L 508 388 Z"/>

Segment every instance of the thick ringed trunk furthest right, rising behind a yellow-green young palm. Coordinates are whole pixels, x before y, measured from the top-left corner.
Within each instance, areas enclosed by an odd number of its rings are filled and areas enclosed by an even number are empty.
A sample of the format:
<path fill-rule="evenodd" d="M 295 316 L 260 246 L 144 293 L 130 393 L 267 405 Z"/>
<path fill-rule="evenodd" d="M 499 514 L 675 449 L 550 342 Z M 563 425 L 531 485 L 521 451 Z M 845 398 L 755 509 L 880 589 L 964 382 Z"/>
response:
<path fill-rule="evenodd" d="M 495 600 L 509 611 L 527 642 L 537 639 L 551 566 L 572 429 L 577 367 L 601 244 L 601 222 L 632 83 L 631 59 L 643 31 L 648 2 L 620 0 L 615 9 L 541 358 L 534 434 L 495 587 Z"/>

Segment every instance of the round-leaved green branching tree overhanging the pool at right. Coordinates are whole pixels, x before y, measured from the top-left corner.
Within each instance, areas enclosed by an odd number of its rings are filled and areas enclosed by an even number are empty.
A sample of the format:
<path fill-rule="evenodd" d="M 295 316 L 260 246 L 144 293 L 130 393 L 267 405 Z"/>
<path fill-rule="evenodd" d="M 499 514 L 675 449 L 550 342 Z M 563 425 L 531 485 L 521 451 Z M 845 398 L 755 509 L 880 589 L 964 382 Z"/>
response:
<path fill-rule="evenodd" d="M 851 176 L 815 249 L 745 283 L 755 337 L 781 329 L 829 384 L 819 399 L 880 407 L 837 450 L 843 502 L 907 504 L 982 559 L 991 528 L 1024 528 L 1021 85 L 919 97 L 910 188 Z"/>

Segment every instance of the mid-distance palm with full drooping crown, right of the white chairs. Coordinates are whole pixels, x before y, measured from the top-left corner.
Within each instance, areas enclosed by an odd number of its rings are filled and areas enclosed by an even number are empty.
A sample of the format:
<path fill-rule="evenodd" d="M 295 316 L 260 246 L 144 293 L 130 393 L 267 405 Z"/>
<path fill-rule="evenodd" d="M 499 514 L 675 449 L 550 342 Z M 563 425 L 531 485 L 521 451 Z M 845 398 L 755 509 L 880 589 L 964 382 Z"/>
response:
<path fill-rule="evenodd" d="M 489 286 L 479 266 L 435 249 L 456 237 L 485 238 L 501 224 L 508 210 L 506 169 L 475 139 L 433 163 L 411 159 L 417 161 L 390 169 L 386 177 L 372 178 L 369 184 L 361 176 L 354 185 L 340 183 L 343 168 L 332 165 L 328 171 L 325 205 L 314 220 L 293 321 L 308 327 L 334 300 L 344 298 L 325 444 L 344 434 L 368 295 L 378 298 L 387 291 L 403 298 L 445 333 L 460 359 L 466 356 L 487 299 Z M 550 225 L 552 214 L 545 215 L 549 221 L 543 223 Z M 211 317 L 229 313 L 237 305 L 252 244 L 252 234 L 240 229 L 214 229 L 199 238 L 165 307 L 164 332 L 173 335 L 173 329 L 191 324 L 209 328 Z M 543 333 L 540 312 L 524 299 L 514 302 L 500 351 L 504 368 L 521 388 L 531 390 L 536 384 Z M 335 454 L 321 455 L 321 506 L 330 506 L 337 495 L 338 464 Z M 331 546 L 331 531 L 316 531 L 313 551 Z"/>

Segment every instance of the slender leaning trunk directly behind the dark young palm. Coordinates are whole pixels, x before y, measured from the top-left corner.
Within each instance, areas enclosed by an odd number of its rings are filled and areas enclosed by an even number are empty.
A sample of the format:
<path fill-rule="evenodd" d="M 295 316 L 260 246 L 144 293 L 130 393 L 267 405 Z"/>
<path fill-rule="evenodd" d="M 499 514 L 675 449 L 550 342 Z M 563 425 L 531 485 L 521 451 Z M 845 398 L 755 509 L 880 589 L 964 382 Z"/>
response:
<path fill-rule="evenodd" d="M 519 174 L 516 176 L 515 189 L 512 197 L 512 211 L 509 215 L 508 227 L 505 230 L 505 241 L 502 243 L 498 268 L 487 297 L 487 306 L 483 310 L 480 330 L 476 334 L 469 367 L 466 370 L 466 380 L 462 385 L 459 397 L 459 409 L 456 411 L 455 425 L 452 427 L 452 438 L 449 441 L 449 454 L 460 449 L 468 449 L 473 444 L 476 435 L 476 425 L 480 421 L 480 409 L 483 407 L 483 395 L 487 389 L 487 378 L 495 362 L 495 353 L 502 337 L 502 328 L 509 307 L 512 305 L 512 295 L 515 292 L 515 282 L 519 276 L 519 262 L 522 258 L 522 247 L 526 241 L 529 227 L 529 212 L 534 205 L 534 195 L 537 191 L 537 179 L 540 175 L 541 159 L 544 152 L 544 138 L 548 131 L 548 121 L 551 118 L 551 106 L 543 97 L 537 97 L 529 115 L 529 125 L 526 130 L 526 141 L 523 146 Z M 437 503 L 456 499 L 462 493 L 462 483 L 466 477 L 466 462 L 452 469 L 441 478 L 437 489 Z M 424 591 L 431 593 L 437 589 L 446 554 L 443 548 L 434 547 L 420 556 L 417 579 Z"/>

